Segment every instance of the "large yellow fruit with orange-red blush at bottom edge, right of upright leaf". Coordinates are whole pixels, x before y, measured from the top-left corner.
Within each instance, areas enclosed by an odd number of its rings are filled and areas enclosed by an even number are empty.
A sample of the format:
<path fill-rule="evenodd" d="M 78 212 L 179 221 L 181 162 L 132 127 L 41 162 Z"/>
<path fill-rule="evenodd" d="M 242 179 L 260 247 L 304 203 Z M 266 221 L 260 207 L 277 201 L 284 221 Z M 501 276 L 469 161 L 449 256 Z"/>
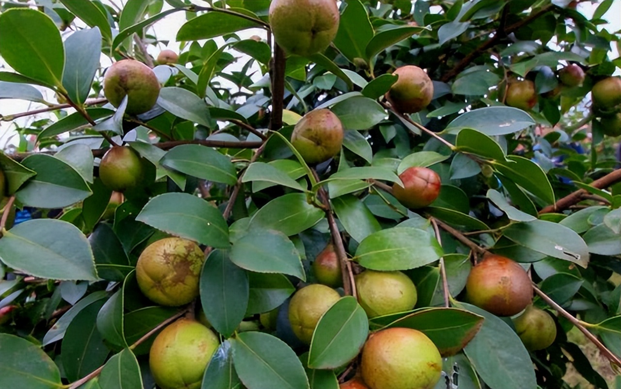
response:
<path fill-rule="evenodd" d="M 424 333 L 389 328 L 366 341 L 361 372 L 371 389 L 432 389 L 442 376 L 442 357 Z"/>

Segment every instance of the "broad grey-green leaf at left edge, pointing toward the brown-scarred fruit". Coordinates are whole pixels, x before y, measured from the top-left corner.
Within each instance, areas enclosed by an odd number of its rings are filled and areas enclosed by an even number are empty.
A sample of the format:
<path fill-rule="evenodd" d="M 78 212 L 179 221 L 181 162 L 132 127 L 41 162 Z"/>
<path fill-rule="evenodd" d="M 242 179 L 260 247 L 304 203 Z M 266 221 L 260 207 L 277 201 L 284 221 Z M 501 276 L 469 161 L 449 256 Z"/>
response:
<path fill-rule="evenodd" d="M 14 226 L 0 239 L 0 259 L 35 277 L 97 280 L 86 236 L 66 221 L 35 219 Z"/>

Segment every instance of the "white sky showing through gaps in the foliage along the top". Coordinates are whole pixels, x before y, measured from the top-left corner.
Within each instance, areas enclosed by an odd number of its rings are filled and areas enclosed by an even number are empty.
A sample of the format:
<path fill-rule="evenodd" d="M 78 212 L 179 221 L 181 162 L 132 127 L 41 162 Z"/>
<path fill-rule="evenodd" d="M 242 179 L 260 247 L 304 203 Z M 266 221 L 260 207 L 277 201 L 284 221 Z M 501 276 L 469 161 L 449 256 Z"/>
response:
<path fill-rule="evenodd" d="M 124 4 L 124 1 L 120 1 L 120 0 L 104 0 L 103 2 L 108 3 L 108 4 L 110 3 L 115 3 L 119 5 Z M 193 2 L 201 6 L 209 6 L 209 4 L 207 4 L 204 1 L 193 0 Z M 167 9 L 170 6 L 168 6 L 168 4 L 165 3 L 164 7 L 165 7 L 164 9 Z M 581 2 L 578 6 L 578 11 L 582 12 L 582 14 L 584 14 L 587 17 L 591 17 L 596 7 L 597 7 L 597 4 L 591 4 L 589 2 Z M 603 26 L 609 32 L 615 32 L 615 31 L 621 30 L 621 1 L 615 1 L 612 4 L 609 11 L 605 14 L 604 19 L 607 19 L 610 22 L 610 24 Z M 156 23 L 152 27 L 152 30 L 150 32 L 155 32 L 155 35 L 160 40 L 168 40 L 169 43 L 167 47 L 160 45 L 160 47 L 156 48 L 156 47 L 153 47 L 152 45 L 149 45 L 148 52 L 153 57 L 156 57 L 158 53 L 160 52 L 160 50 L 163 50 L 164 48 L 170 48 L 171 50 L 175 50 L 178 52 L 179 42 L 175 41 L 175 35 L 176 35 L 176 32 L 181 27 L 181 25 L 183 25 L 185 22 L 186 22 L 186 19 L 185 19 L 184 12 L 176 12 L 174 14 L 167 16 L 165 19 L 160 20 L 160 22 Z M 65 34 L 67 33 L 70 33 L 70 32 L 69 31 L 65 32 Z M 240 35 L 240 37 L 242 38 L 248 38 L 252 35 L 259 35 L 263 39 L 266 39 L 266 31 L 263 29 L 245 30 L 245 31 L 240 32 L 238 35 Z M 218 43 L 218 45 L 221 45 L 222 43 L 224 43 L 224 41 L 221 38 L 218 38 L 216 42 Z M 613 50 L 612 50 L 612 54 L 610 55 L 610 57 L 614 59 L 619 56 L 619 52 L 617 51 L 617 48 L 615 47 L 615 45 L 612 45 L 612 47 L 613 47 Z M 235 51 L 233 55 L 240 56 L 242 58 L 240 58 L 240 60 L 238 60 L 237 63 L 233 63 L 232 65 L 230 65 L 229 68 L 227 68 L 227 70 L 229 71 L 239 70 L 242 68 L 243 64 L 247 62 L 247 57 L 244 58 L 244 56 L 242 56 L 241 53 L 238 53 L 237 51 Z M 101 65 L 109 66 L 110 65 L 109 58 L 102 55 Z M 2 58 L 0 58 L 0 68 L 10 69 L 9 66 L 6 65 L 4 60 L 2 60 Z M 258 70 L 258 66 L 256 66 L 256 64 L 254 66 L 254 69 Z M 619 69 L 617 69 L 617 73 L 620 73 Z M 253 79 L 260 78 L 260 76 L 261 74 L 257 73 L 255 75 L 255 78 Z M 224 85 L 229 83 L 227 80 L 224 80 L 224 79 L 220 79 L 220 81 Z M 55 96 L 52 91 L 50 91 L 49 89 L 43 88 L 43 87 L 40 87 L 39 89 L 43 92 L 43 97 L 45 98 L 46 101 L 55 102 Z M 42 107 L 44 107 L 44 105 L 33 103 L 33 102 L 28 102 L 28 101 L 14 100 L 14 99 L 0 100 L 0 114 L 2 115 L 11 115 L 11 114 L 16 114 L 18 112 L 25 112 L 28 110 L 39 109 Z M 24 117 L 24 118 L 18 119 L 17 122 L 19 123 L 19 125 L 24 126 L 24 125 L 27 125 L 27 123 L 32 122 L 33 120 L 37 120 L 37 119 L 45 118 L 45 117 L 49 117 L 49 116 L 47 114 L 43 114 L 43 115 L 37 115 L 37 116 L 31 116 L 31 117 Z M 4 148 L 4 145 L 9 144 L 9 143 L 16 144 L 17 140 L 16 140 L 15 135 L 16 133 L 14 132 L 14 125 L 8 122 L 0 122 L 0 148 Z"/>

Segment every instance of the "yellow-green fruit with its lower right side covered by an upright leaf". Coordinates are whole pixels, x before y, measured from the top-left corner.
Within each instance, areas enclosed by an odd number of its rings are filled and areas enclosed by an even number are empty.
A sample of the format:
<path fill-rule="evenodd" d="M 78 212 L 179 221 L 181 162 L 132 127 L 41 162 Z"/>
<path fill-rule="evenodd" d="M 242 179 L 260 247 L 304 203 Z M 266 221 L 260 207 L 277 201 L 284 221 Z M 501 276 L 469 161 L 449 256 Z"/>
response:
<path fill-rule="evenodd" d="M 297 338 L 311 344 L 317 322 L 339 298 L 336 290 L 321 284 L 308 285 L 298 290 L 289 302 L 289 321 Z"/>

